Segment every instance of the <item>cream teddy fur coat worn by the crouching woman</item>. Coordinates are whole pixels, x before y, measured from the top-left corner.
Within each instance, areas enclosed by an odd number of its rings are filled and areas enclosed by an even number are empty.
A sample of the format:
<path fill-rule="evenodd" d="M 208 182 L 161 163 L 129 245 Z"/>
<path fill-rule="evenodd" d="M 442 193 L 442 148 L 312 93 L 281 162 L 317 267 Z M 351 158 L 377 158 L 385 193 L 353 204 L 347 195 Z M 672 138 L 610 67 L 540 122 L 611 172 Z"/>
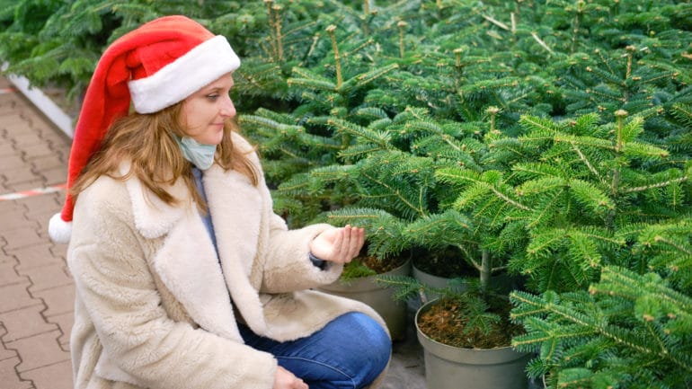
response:
<path fill-rule="evenodd" d="M 329 225 L 288 230 L 263 180 L 253 186 L 215 164 L 202 181 L 218 256 L 194 204 L 166 205 L 134 178 L 102 177 L 79 195 L 67 250 L 75 388 L 271 389 L 276 359 L 245 346 L 236 321 L 274 340 L 350 311 L 385 326 L 368 305 L 310 290 L 342 271 L 308 259 Z M 182 181 L 170 193 L 190 198 Z"/>

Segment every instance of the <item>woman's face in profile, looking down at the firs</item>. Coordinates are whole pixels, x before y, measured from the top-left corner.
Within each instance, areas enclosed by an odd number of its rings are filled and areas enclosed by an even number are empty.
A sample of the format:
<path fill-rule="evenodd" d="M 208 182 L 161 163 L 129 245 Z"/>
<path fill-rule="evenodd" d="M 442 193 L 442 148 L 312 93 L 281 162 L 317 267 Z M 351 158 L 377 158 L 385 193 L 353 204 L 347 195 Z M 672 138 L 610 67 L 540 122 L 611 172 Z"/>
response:
<path fill-rule="evenodd" d="M 235 106 L 228 96 L 232 87 L 233 75 L 227 73 L 182 102 L 182 125 L 188 137 L 205 145 L 221 142 L 224 122 L 235 117 Z"/>

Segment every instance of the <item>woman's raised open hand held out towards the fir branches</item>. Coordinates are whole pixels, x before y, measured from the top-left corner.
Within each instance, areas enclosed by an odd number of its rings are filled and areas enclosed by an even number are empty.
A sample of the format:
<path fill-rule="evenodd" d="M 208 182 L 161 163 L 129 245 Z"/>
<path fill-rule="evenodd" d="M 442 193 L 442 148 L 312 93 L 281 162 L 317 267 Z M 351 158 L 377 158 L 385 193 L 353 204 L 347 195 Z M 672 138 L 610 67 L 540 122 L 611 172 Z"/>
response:
<path fill-rule="evenodd" d="M 324 261 L 348 263 L 356 258 L 365 242 L 365 230 L 346 225 L 330 228 L 310 242 L 310 252 Z"/>

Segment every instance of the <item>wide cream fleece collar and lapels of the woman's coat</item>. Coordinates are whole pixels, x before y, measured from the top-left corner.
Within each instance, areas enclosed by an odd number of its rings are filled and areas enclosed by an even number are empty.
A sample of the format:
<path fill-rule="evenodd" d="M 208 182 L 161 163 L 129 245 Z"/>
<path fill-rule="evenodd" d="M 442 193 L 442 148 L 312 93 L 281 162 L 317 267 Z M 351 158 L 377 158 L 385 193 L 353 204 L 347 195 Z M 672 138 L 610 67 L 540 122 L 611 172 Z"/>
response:
<path fill-rule="evenodd" d="M 123 166 L 124 172 L 129 166 Z M 212 165 L 202 182 L 217 238 L 214 244 L 192 202 L 168 205 L 136 179 L 126 181 L 135 225 L 148 239 L 163 238 L 153 269 L 185 307 L 192 320 L 209 332 L 240 340 L 230 296 L 255 332 L 266 333 L 259 290 L 261 275 L 253 270 L 268 190 L 253 186 L 238 172 Z M 264 188 L 263 186 L 261 186 Z M 190 199 L 182 180 L 167 188 L 177 199 Z M 271 207 L 271 201 L 269 203 Z"/>

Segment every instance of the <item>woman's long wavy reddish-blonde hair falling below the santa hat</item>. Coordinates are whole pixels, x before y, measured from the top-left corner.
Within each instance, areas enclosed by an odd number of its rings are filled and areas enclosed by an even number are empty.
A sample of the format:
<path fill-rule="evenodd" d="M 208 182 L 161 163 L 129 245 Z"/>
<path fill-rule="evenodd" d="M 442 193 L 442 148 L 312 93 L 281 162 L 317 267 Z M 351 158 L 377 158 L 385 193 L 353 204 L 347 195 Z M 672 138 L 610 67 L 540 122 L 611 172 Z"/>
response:
<path fill-rule="evenodd" d="M 70 188 L 74 201 L 79 193 L 102 175 L 120 181 L 135 176 L 157 198 L 166 204 L 176 205 L 182 199 L 175 199 L 164 186 L 173 185 L 182 178 L 192 199 L 200 205 L 201 211 L 206 212 L 207 205 L 197 190 L 191 164 L 183 158 L 173 137 L 185 136 L 181 108 L 182 102 L 178 102 L 152 114 L 134 112 L 116 120 L 106 131 L 100 150 L 91 157 Z M 244 174 L 256 186 L 259 182 L 257 168 L 249 160 L 248 153 L 233 145 L 231 134 L 237 130 L 235 121 L 226 120 L 224 136 L 217 146 L 214 161 L 225 171 L 235 170 Z M 130 162 L 129 172 L 124 175 L 119 172 L 123 161 Z"/>

